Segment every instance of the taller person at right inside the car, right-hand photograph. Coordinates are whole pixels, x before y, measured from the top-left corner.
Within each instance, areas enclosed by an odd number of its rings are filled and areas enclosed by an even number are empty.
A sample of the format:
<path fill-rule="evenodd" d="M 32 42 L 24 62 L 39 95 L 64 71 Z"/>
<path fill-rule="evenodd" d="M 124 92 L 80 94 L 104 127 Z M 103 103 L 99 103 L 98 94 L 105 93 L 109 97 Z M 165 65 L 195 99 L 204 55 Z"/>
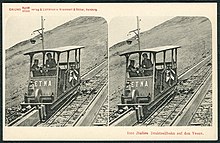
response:
<path fill-rule="evenodd" d="M 144 75 L 145 76 L 152 75 L 153 72 L 151 70 L 152 70 L 153 64 L 151 60 L 148 59 L 148 55 L 146 53 L 144 53 L 142 56 L 144 58 L 142 60 L 142 68 L 144 69 Z"/>

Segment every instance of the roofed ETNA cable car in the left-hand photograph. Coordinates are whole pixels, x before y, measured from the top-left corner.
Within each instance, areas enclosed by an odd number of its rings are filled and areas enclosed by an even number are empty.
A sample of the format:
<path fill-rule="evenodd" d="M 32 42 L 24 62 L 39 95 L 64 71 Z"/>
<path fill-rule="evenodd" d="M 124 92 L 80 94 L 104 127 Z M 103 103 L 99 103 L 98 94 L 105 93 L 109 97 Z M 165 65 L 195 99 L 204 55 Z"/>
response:
<path fill-rule="evenodd" d="M 69 91 L 73 89 L 77 91 L 80 85 L 80 51 L 82 48 L 84 47 L 66 46 L 25 53 L 24 55 L 30 57 L 30 68 L 28 91 L 21 105 L 53 105 L 67 98 L 66 94 Z M 48 53 L 55 61 L 54 67 L 47 65 Z M 36 59 L 41 61 L 37 74 L 33 71 L 33 62 Z"/>

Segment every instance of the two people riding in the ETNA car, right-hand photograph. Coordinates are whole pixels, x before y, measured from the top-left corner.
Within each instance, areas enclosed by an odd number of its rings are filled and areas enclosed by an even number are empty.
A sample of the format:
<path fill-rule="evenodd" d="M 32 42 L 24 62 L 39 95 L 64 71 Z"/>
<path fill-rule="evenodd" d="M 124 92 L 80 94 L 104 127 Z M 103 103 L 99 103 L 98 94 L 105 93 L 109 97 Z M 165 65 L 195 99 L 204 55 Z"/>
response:
<path fill-rule="evenodd" d="M 128 66 L 128 73 L 130 77 L 138 77 L 138 76 L 148 76 L 151 75 L 153 64 L 151 60 L 148 58 L 147 53 L 142 54 L 143 60 L 141 66 L 139 68 L 135 68 L 135 60 L 130 60 L 130 65 Z"/>

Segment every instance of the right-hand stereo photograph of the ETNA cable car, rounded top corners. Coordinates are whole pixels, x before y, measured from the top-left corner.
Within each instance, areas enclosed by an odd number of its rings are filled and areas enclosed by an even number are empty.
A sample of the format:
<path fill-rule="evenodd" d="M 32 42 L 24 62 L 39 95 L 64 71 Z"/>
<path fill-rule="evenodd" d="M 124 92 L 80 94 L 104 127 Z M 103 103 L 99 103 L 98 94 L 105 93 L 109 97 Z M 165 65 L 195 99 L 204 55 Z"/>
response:
<path fill-rule="evenodd" d="M 109 35 L 109 126 L 213 125 L 208 18 L 116 17 Z"/>

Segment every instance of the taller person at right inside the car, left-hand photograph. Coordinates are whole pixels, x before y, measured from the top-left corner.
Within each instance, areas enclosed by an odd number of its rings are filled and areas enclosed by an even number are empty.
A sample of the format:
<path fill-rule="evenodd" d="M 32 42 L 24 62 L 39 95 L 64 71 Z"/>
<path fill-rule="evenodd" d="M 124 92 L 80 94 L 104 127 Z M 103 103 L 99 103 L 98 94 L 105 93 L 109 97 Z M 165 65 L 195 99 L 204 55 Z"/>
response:
<path fill-rule="evenodd" d="M 47 53 L 47 60 L 46 60 L 46 68 L 55 68 L 56 67 L 56 61 L 52 58 L 51 53 Z M 56 70 L 55 69 L 48 69 L 48 75 L 55 75 Z"/>

